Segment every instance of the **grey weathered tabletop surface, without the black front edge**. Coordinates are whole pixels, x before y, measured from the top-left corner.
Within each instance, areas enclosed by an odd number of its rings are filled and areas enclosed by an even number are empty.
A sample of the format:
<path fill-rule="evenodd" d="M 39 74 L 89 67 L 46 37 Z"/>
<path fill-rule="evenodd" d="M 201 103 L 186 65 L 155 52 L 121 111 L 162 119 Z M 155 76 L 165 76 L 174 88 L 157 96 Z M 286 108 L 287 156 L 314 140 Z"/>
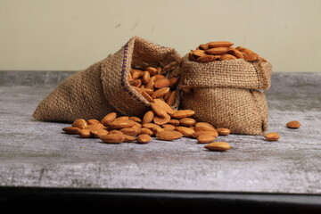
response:
<path fill-rule="evenodd" d="M 32 113 L 70 72 L 0 72 L 0 185 L 256 193 L 321 193 L 321 73 L 274 73 L 263 136 L 218 136 L 227 152 L 183 138 L 102 144 L 62 134 Z M 285 128 L 299 120 L 299 129 Z"/>

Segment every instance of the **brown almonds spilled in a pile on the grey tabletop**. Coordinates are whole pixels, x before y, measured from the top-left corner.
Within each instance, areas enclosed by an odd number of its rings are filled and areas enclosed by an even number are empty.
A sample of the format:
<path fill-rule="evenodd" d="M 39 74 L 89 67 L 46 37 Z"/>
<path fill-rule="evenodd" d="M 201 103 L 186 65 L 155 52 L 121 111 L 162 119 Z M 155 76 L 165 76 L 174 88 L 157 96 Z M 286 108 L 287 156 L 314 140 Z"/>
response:
<path fill-rule="evenodd" d="M 136 142 L 147 144 L 152 137 L 173 141 L 183 136 L 197 139 L 199 144 L 213 151 L 226 151 L 231 148 L 226 142 L 214 142 L 218 136 L 227 136 L 227 128 L 214 128 L 206 122 L 191 118 L 192 110 L 173 110 L 163 99 L 153 99 L 151 110 L 142 119 L 120 116 L 116 112 L 107 114 L 101 121 L 97 119 L 76 119 L 71 127 L 62 130 L 80 137 L 100 138 L 103 143 L 120 144 Z"/>

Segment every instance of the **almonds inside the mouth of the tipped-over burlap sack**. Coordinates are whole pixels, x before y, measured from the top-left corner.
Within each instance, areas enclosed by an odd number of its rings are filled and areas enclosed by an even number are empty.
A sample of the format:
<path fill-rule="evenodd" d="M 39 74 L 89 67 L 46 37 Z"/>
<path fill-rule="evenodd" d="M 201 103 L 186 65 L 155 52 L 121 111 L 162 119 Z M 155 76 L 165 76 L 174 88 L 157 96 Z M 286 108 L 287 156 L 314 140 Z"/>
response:
<path fill-rule="evenodd" d="M 178 78 L 166 78 L 167 72 L 161 67 L 147 67 L 144 70 L 132 69 L 128 74 L 128 82 L 144 98 L 152 103 L 153 99 L 161 98 L 172 106 L 176 92 Z"/>

